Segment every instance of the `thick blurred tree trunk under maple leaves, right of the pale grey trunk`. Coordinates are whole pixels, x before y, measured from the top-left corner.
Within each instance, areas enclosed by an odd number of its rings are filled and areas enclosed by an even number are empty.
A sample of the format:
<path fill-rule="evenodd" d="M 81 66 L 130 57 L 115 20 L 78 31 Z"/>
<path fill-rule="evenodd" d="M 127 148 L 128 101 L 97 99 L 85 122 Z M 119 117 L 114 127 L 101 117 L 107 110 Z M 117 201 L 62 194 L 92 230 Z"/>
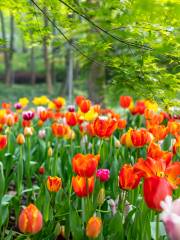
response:
<path fill-rule="evenodd" d="M 88 78 L 88 94 L 94 103 L 103 103 L 104 101 L 104 66 L 92 63 Z"/>

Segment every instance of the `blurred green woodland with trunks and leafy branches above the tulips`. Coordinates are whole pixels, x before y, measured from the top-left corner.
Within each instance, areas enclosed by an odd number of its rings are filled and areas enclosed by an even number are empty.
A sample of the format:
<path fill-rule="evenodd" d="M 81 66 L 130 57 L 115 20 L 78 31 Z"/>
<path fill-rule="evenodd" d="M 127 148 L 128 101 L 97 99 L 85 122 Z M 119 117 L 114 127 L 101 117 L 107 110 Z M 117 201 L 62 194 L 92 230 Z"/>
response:
<path fill-rule="evenodd" d="M 0 101 L 179 105 L 179 0 L 0 1 Z"/>

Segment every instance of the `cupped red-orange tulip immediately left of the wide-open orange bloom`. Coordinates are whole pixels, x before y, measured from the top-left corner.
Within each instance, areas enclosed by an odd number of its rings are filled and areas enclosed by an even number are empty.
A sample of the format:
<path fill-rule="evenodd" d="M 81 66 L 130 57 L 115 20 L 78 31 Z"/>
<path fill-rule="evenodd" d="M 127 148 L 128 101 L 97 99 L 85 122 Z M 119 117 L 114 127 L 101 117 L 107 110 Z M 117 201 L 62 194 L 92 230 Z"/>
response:
<path fill-rule="evenodd" d="M 134 171 L 130 164 L 124 164 L 119 172 L 119 186 L 124 190 L 136 188 L 141 180 L 141 175 Z"/>

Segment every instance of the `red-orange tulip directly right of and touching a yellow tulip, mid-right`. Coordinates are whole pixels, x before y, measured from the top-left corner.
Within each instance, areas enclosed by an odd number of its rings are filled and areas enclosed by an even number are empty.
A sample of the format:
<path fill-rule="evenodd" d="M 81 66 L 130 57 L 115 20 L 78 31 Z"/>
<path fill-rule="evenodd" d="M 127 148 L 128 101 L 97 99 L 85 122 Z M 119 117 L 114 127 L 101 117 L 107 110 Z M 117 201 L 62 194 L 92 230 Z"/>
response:
<path fill-rule="evenodd" d="M 146 129 L 131 130 L 131 141 L 134 147 L 143 147 L 150 141 L 150 135 Z"/>

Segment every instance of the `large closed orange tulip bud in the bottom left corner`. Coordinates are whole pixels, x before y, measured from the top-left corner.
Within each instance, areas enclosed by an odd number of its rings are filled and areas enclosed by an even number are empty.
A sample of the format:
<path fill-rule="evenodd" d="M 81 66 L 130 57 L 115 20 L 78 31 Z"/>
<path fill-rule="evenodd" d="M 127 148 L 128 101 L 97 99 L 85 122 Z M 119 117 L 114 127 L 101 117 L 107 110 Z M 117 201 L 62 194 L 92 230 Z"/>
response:
<path fill-rule="evenodd" d="M 41 212 L 33 204 L 24 208 L 18 220 L 19 229 L 22 233 L 35 234 L 41 231 L 43 218 Z"/>

